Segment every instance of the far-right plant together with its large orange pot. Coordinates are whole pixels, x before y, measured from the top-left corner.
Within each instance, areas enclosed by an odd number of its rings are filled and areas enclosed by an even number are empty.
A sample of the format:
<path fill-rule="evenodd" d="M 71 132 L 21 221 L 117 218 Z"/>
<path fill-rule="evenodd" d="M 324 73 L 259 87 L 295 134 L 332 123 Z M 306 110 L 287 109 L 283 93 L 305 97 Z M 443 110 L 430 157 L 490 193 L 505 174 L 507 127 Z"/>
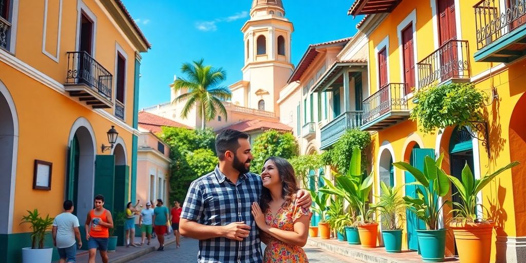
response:
<path fill-rule="evenodd" d="M 519 165 L 518 161 L 500 168 L 494 173 L 480 179 L 474 179 L 469 166 L 462 169 L 462 180 L 448 175 L 457 189 L 460 203 L 453 202 L 453 213 L 457 215 L 450 221 L 457 250 L 462 263 L 487 263 L 491 256 L 491 234 L 495 222 L 477 215 L 477 195 L 503 171 Z"/>

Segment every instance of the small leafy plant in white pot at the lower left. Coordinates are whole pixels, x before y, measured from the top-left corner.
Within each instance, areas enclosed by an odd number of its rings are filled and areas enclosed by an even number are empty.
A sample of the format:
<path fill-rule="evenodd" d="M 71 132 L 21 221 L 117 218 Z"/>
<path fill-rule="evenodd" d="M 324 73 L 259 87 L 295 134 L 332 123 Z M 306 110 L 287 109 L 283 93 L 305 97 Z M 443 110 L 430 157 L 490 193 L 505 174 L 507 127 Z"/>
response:
<path fill-rule="evenodd" d="M 27 210 L 28 215 L 22 217 L 22 224 L 29 224 L 31 228 L 31 247 L 22 248 L 22 262 L 33 263 L 33 262 L 51 262 L 53 256 L 52 247 L 44 247 L 44 241 L 46 238 L 46 231 L 53 225 L 52 217 L 49 215 L 46 218 L 42 218 L 38 214 L 38 209 L 35 208 L 33 211 Z"/>

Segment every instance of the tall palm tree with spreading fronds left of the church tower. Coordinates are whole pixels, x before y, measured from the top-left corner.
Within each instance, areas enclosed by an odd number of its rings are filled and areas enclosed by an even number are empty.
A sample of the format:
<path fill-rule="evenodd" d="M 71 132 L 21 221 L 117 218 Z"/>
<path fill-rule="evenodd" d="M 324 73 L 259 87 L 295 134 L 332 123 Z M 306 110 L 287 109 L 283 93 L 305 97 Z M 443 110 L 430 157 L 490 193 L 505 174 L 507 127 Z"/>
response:
<path fill-rule="evenodd" d="M 187 78 L 179 78 L 174 81 L 174 90 L 186 88 L 188 92 L 181 94 L 172 103 L 186 100 L 186 104 L 181 112 L 181 117 L 187 118 L 190 110 L 196 106 L 202 123 L 201 128 L 205 129 L 205 123 L 214 119 L 217 110 L 227 118 L 227 111 L 222 102 L 232 97 L 230 89 L 220 86 L 226 79 L 226 71 L 222 68 L 213 68 L 210 65 L 203 65 L 204 59 L 192 63 L 183 63 L 181 72 Z"/>

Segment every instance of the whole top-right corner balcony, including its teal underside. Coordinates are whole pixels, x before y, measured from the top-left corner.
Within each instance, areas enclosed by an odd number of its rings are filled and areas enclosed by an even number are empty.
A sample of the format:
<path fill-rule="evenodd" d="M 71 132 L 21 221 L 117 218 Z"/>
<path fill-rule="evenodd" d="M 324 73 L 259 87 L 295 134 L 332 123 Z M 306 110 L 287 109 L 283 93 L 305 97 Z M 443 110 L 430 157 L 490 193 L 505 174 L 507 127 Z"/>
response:
<path fill-rule="evenodd" d="M 473 8 L 476 62 L 510 63 L 526 54 L 526 1 L 481 0 Z"/>

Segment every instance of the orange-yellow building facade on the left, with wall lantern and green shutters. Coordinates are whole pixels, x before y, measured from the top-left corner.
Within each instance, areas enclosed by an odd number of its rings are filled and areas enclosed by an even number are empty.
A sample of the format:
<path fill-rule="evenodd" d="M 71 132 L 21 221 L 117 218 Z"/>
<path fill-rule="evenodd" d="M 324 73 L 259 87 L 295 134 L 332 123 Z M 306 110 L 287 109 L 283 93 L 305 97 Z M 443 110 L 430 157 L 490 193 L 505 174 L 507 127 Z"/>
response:
<path fill-rule="evenodd" d="M 112 211 L 135 199 L 149 47 L 120 0 L 0 1 L 0 261 L 31 246 L 26 210 L 55 216 L 72 199 L 82 224 L 96 194 Z"/>

